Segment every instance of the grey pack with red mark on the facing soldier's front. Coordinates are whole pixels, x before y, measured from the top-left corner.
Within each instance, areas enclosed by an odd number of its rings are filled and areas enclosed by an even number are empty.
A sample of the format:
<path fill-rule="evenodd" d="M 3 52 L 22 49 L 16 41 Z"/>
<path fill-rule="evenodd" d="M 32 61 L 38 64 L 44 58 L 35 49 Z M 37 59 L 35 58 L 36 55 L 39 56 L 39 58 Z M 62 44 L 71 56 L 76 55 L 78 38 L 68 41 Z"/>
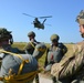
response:
<path fill-rule="evenodd" d="M 52 46 L 50 48 L 49 52 L 48 52 L 48 63 L 55 63 L 55 62 L 60 62 L 61 59 L 63 56 L 62 53 L 62 44 L 59 44 L 59 46 Z"/>

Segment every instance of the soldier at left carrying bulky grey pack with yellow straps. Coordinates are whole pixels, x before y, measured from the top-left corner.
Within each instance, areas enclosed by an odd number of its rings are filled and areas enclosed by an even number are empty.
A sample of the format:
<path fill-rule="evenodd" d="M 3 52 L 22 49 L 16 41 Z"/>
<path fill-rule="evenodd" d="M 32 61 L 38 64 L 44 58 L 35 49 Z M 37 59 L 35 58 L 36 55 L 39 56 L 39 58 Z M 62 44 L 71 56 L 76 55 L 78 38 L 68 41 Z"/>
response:
<path fill-rule="evenodd" d="M 31 83 L 38 74 L 38 61 L 31 54 L 19 54 L 18 49 L 11 48 L 12 34 L 7 29 L 0 29 L 0 56 L 2 58 L 0 70 L 0 83 Z M 12 41 L 11 41 L 12 42 Z M 12 42 L 13 43 L 13 42 Z M 44 44 L 38 45 L 35 56 L 44 51 Z"/>

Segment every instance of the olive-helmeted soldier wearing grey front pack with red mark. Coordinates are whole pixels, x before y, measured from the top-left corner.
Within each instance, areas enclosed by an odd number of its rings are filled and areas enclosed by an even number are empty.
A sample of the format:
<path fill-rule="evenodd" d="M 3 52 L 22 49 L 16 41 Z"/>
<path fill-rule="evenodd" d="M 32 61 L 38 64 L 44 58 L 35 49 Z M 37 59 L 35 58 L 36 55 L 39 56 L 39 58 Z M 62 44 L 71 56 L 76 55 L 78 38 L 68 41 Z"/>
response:
<path fill-rule="evenodd" d="M 52 44 L 48 49 L 44 65 L 46 71 L 51 70 L 51 65 L 53 63 L 60 62 L 63 55 L 67 52 L 67 48 L 63 43 L 59 42 L 60 37 L 57 34 L 52 34 L 50 40 Z"/>

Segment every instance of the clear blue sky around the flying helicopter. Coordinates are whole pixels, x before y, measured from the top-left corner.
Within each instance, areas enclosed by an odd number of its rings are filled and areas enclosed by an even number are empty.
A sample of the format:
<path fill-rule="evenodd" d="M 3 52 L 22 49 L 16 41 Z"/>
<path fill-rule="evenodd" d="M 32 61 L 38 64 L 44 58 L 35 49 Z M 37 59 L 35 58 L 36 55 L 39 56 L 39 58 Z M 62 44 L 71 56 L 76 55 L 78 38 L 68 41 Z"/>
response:
<path fill-rule="evenodd" d="M 50 37 L 55 33 L 60 42 L 76 43 L 83 40 L 75 22 L 81 10 L 84 0 L 0 0 L 0 28 L 12 31 L 14 42 L 29 42 L 28 32 L 33 31 L 40 42 L 50 43 Z M 34 18 L 22 13 L 52 18 L 46 18 L 44 30 L 39 30 L 31 24 Z"/>

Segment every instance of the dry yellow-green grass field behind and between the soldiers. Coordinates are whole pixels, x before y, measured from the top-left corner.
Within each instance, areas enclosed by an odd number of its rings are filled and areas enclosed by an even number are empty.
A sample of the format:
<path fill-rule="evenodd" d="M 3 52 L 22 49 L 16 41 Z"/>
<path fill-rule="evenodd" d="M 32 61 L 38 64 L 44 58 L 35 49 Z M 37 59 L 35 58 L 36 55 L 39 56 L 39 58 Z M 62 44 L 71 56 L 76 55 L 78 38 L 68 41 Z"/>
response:
<path fill-rule="evenodd" d="M 12 46 L 13 46 L 13 48 L 17 46 L 17 48 L 23 50 L 23 48 L 24 48 L 25 45 L 27 45 L 27 43 L 23 43 L 23 42 L 14 42 Z M 73 45 L 74 45 L 74 44 L 65 44 L 65 45 L 67 46 L 67 53 L 66 53 L 65 55 L 72 54 L 72 52 L 73 52 L 72 49 L 73 49 Z M 46 46 L 49 46 L 49 44 L 46 44 Z M 46 55 L 46 53 L 44 53 L 43 56 L 39 60 L 40 66 L 43 66 L 43 65 L 44 65 L 45 55 Z"/>

